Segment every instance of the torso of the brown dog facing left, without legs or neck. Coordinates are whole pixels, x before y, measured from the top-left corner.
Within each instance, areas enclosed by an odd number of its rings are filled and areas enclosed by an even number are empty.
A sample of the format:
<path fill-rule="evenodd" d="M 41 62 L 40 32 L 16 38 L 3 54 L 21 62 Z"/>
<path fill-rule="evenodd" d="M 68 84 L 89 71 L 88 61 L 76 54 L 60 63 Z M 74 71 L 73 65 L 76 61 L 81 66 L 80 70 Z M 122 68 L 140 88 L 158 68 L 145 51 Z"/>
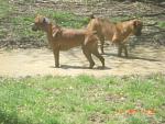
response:
<path fill-rule="evenodd" d="M 88 38 L 88 43 L 97 43 L 98 37 L 95 35 L 94 31 L 88 31 L 87 29 L 76 30 L 76 29 L 61 29 L 54 40 L 61 46 L 61 50 L 67 50 L 72 47 L 85 45 L 85 41 Z"/>

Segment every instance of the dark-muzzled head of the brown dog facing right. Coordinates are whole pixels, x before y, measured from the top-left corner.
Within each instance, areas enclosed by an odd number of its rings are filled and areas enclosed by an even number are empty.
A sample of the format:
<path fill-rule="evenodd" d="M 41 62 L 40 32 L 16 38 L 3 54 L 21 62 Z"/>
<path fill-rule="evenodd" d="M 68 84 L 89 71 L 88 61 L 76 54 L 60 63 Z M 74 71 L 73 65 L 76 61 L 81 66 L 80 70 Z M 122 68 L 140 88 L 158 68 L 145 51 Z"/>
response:
<path fill-rule="evenodd" d="M 140 36 L 142 34 L 143 22 L 139 20 L 133 20 L 132 24 L 133 24 L 133 34 L 135 36 Z"/>

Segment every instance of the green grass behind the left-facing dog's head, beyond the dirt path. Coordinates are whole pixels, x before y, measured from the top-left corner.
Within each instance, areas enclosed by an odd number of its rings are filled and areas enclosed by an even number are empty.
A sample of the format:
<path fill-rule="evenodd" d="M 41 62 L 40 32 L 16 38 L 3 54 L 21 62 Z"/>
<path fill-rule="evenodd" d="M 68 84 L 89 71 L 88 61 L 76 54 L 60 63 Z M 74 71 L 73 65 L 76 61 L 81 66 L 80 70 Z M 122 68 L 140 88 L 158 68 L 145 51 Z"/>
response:
<path fill-rule="evenodd" d="M 34 18 L 36 14 L 42 14 L 56 23 L 65 27 L 81 29 L 88 23 L 88 18 L 75 15 L 72 12 L 55 11 L 48 8 L 35 8 L 35 13 L 22 12 L 20 7 L 16 4 L 9 3 L 6 0 L 0 0 L 0 37 L 6 38 L 8 35 L 12 37 L 12 41 L 21 41 L 29 38 L 29 41 L 36 40 L 40 42 L 47 41 L 43 32 L 33 32 L 31 25 L 34 23 Z M 22 1 L 22 4 L 31 4 L 32 0 Z M 33 9 L 33 7 L 32 7 Z M 20 11 L 18 11 L 20 10 Z M 10 26 L 9 26 L 10 25 Z M 26 41 L 25 41 L 26 42 Z M 45 42 L 46 43 L 46 42 Z"/>

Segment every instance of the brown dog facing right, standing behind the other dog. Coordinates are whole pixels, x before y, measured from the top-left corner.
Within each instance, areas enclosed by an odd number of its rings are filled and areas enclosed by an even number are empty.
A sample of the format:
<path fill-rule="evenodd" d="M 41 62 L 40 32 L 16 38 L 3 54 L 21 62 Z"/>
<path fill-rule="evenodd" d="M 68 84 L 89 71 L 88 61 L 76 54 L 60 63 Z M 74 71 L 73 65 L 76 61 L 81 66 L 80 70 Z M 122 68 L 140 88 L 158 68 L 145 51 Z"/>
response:
<path fill-rule="evenodd" d="M 130 35 L 141 35 L 143 23 L 139 20 L 131 20 L 120 23 L 112 23 L 106 19 L 90 16 L 91 20 L 87 26 L 89 31 L 97 31 L 97 35 L 101 43 L 101 53 L 103 54 L 105 38 L 118 45 L 118 56 L 121 56 L 122 49 L 128 57 L 127 38 Z"/>

